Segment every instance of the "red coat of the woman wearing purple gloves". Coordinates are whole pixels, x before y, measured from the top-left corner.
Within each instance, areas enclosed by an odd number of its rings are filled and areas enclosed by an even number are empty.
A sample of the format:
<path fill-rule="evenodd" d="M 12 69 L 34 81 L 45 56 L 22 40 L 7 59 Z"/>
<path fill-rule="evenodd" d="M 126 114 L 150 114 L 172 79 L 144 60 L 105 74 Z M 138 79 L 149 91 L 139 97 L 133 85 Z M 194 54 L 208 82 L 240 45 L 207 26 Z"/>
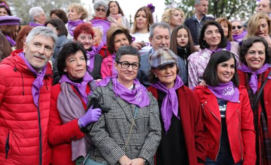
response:
<path fill-rule="evenodd" d="M 77 124 L 78 119 L 71 120 L 65 124 L 62 123 L 62 119 L 57 108 L 57 101 L 60 91 L 60 83 L 52 86 L 48 135 L 49 143 L 52 145 L 52 165 L 75 164 L 75 162 L 71 161 L 71 142 L 83 138 L 85 135 L 79 129 Z M 85 102 L 74 88 L 73 91 L 80 98 L 86 110 L 87 106 Z M 89 91 L 90 88 L 87 87 L 87 92 Z"/>

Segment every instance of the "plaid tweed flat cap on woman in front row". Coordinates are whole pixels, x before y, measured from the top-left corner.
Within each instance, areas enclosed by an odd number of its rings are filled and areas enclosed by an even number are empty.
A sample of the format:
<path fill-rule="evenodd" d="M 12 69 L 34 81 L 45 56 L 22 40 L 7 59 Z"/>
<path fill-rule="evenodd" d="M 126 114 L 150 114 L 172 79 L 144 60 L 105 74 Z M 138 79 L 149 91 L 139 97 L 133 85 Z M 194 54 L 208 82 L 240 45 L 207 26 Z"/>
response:
<path fill-rule="evenodd" d="M 157 49 L 149 56 L 149 64 L 152 68 L 162 67 L 169 63 L 177 63 L 177 55 L 168 48 Z"/>

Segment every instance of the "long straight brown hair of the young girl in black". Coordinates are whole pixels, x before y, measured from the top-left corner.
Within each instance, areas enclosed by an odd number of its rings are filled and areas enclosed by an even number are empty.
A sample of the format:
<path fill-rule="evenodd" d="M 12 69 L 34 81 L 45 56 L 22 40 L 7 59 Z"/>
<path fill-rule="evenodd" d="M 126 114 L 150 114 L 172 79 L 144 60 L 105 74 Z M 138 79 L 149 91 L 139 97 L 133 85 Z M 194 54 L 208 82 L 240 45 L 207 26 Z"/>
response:
<path fill-rule="evenodd" d="M 188 27 L 185 25 L 179 25 L 175 27 L 171 33 L 171 40 L 170 40 L 170 50 L 172 50 L 175 54 L 178 54 L 177 52 L 177 33 L 179 29 L 184 28 L 188 32 L 188 44 L 190 44 L 190 51 L 191 54 L 194 53 L 196 50 L 194 48 L 194 42 L 192 39 L 192 35 Z"/>

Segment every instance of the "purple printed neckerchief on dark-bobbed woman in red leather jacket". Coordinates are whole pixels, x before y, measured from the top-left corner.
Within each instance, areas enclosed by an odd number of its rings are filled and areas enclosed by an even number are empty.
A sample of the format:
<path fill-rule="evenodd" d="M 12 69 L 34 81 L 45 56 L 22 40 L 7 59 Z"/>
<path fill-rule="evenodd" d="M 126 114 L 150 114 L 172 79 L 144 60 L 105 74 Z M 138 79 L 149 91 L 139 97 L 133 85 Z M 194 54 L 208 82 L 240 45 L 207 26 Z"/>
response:
<path fill-rule="evenodd" d="M 220 83 L 218 86 L 207 86 L 208 89 L 218 98 L 229 102 L 237 103 L 239 101 L 239 89 L 236 88 L 232 81 Z"/>

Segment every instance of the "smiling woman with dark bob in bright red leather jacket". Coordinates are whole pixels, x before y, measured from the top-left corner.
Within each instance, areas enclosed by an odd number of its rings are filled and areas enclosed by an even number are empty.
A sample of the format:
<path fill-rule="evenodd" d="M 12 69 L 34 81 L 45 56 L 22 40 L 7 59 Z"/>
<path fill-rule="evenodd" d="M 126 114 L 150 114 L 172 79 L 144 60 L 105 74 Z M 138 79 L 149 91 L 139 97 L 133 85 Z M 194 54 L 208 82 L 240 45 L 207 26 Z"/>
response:
<path fill-rule="evenodd" d="M 195 93 L 203 109 L 205 164 L 255 164 L 253 113 L 247 89 L 239 86 L 234 54 L 213 53 L 203 79 L 207 86 L 197 86 Z"/>

